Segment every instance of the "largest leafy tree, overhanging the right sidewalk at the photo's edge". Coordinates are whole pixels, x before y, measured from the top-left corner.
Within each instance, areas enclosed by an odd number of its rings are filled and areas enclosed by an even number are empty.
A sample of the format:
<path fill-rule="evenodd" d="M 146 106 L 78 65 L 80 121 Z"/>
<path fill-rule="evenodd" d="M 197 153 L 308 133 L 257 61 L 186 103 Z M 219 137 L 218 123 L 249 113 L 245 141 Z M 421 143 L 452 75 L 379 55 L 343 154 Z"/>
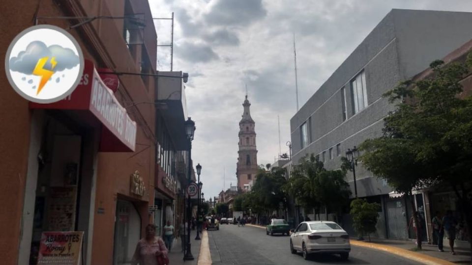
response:
<path fill-rule="evenodd" d="M 360 150 L 364 166 L 399 192 L 450 185 L 472 238 L 472 98 L 460 97 L 460 81 L 470 72 L 466 63 L 434 61 L 431 78 L 401 82 L 387 92 L 397 109 L 384 119 L 383 136 L 366 140 Z M 417 223 L 414 204 L 413 218 Z M 419 231 L 417 245 L 421 248 Z M 472 245 L 471 245 L 472 248 Z"/>

